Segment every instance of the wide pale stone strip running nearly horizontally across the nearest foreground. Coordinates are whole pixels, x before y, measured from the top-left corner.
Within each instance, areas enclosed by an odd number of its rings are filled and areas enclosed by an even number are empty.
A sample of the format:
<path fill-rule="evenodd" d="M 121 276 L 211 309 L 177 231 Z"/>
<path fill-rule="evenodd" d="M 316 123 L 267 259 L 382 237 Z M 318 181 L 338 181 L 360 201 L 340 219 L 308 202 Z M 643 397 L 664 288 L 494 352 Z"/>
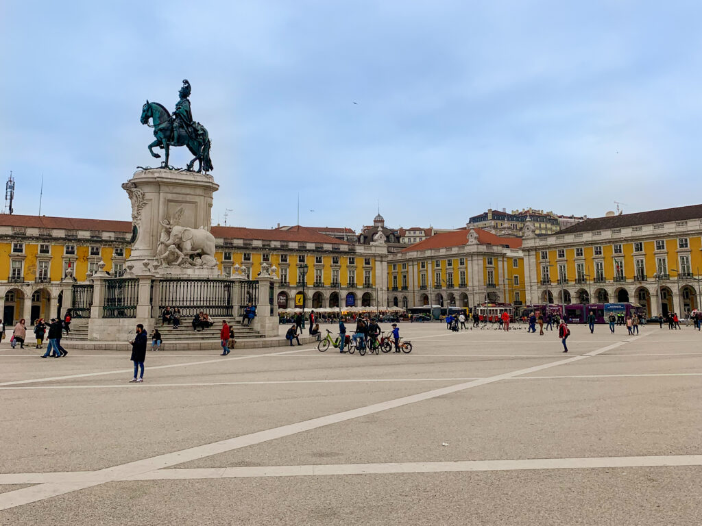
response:
<path fill-rule="evenodd" d="M 383 462 L 373 464 L 306 464 L 301 466 L 249 466 L 240 468 L 175 468 L 146 471 L 113 481 L 192 480 L 206 478 L 298 477 L 390 473 L 448 473 L 456 471 L 522 471 L 540 469 L 650 468 L 702 466 L 702 455 L 681 454 L 642 457 L 583 457 L 565 459 L 466 460 L 438 462 Z M 84 483 L 95 480 L 93 471 L 67 473 L 10 473 L 4 484 Z"/>

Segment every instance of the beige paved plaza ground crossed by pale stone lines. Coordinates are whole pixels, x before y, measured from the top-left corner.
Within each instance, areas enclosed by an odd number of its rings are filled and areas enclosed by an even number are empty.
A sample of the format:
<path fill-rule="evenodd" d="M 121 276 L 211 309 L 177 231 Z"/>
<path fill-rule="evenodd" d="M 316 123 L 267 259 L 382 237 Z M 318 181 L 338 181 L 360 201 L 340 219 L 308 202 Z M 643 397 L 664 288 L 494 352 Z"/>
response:
<path fill-rule="evenodd" d="M 4 342 L 0 524 L 699 525 L 702 335 L 571 329 L 162 351 L 144 384 Z"/>

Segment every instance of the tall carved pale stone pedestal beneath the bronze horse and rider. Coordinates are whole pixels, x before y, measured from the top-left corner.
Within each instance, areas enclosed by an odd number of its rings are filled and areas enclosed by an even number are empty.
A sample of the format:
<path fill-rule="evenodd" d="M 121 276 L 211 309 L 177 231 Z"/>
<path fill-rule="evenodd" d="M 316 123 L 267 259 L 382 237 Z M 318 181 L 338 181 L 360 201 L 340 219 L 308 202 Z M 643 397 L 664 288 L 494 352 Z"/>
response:
<path fill-rule="evenodd" d="M 168 241 L 172 227 L 189 229 L 187 236 L 191 238 L 202 237 L 198 230 L 209 232 L 212 194 L 219 188 L 211 175 L 161 168 L 140 170 L 122 184 L 122 188 L 126 190 L 132 204 L 132 222 L 136 236 L 128 262 L 133 264 L 136 276 L 159 274 L 212 278 L 219 275 L 216 266 L 202 262 L 176 263 L 178 254 L 171 258 L 172 266 L 158 257 L 159 250 L 164 252 L 168 245 L 173 244 Z M 180 240 L 180 234 L 174 231 L 171 241 L 176 236 Z M 180 242 L 176 247 L 183 248 L 185 242 Z M 195 242 L 197 245 L 197 239 Z"/>

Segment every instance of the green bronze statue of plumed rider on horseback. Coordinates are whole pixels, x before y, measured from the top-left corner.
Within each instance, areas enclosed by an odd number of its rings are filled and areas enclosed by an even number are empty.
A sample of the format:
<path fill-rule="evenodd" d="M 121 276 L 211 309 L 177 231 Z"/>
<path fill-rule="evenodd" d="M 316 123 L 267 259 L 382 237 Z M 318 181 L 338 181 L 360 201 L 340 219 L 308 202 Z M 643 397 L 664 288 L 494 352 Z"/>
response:
<path fill-rule="evenodd" d="M 154 146 L 164 149 L 166 159 L 161 164 L 162 168 L 171 168 L 168 166 L 168 154 L 171 146 L 186 146 L 195 157 L 187 163 L 187 170 L 192 171 L 195 161 L 198 161 L 197 171 L 205 173 L 213 169 L 212 161 L 210 160 L 211 142 L 209 135 L 204 126 L 199 122 L 192 120 L 192 112 L 190 112 L 190 82 L 183 81 L 183 87 L 178 91 L 180 100 L 176 104 L 176 111 L 173 116 L 168 113 L 168 110 L 158 102 L 146 101 L 141 112 L 141 123 L 154 128 L 154 137 L 156 140 L 149 144 L 149 151 L 156 159 L 161 157 L 160 154 L 154 152 Z M 153 124 L 149 124 L 149 119 L 152 119 Z"/>

